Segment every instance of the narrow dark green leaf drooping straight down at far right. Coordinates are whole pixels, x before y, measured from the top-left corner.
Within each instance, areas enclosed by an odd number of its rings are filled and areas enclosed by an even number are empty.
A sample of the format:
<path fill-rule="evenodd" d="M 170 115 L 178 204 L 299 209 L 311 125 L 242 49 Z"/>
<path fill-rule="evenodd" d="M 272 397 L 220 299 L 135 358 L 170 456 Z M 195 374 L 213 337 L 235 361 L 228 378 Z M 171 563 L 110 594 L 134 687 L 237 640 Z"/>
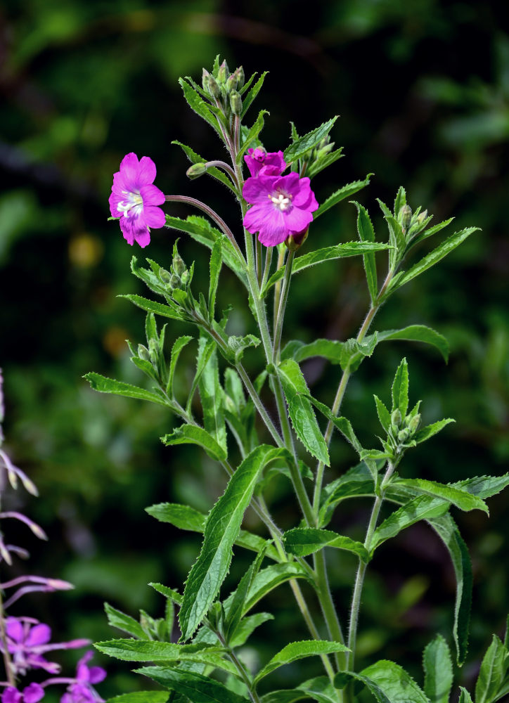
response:
<path fill-rule="evenodd" d="M 472 606 L 472 565 L 468 549 L 451 515 L 427 518 L 444 542 L 456 575 L 456 602 L 454 605 L 453 638 L 458 665 L 465 662 L 468 649 L 470 607 Z"/>

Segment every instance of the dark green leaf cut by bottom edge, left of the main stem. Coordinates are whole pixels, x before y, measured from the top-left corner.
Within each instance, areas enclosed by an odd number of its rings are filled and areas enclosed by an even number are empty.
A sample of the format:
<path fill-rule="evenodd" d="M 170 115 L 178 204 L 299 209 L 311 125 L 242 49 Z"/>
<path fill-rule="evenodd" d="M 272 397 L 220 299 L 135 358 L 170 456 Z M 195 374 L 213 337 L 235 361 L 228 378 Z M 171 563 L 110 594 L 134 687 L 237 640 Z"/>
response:
<path fill-rule="evenodd" d="M 210 676 L 195 671 L 182 671 L 162 666 L 143 666 L 136 673 L 152 678 L 169 690 L 186 696 L 191 703 L 246 703 L 247 699 L 234 693 Z"/>

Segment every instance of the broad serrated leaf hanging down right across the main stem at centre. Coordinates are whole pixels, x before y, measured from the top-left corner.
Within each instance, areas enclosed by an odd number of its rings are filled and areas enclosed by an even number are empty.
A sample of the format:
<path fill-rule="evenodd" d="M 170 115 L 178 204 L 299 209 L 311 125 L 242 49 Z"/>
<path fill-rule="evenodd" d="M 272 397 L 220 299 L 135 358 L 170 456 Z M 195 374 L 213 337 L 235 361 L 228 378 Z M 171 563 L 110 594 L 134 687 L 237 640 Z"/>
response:
<path fill-rule="evenodd" d="M 329 465 L 329 454 L 323 434 L 318 427 L 316 417 L 309 401 L 309 390 L 299 364 L 293 359 L 286 359 L 276 367 L 283 385 L 288 414 L 295 434 L 302 441 L 312 456 Z M 304 394 L 304 395 L 303 395 Z"/>

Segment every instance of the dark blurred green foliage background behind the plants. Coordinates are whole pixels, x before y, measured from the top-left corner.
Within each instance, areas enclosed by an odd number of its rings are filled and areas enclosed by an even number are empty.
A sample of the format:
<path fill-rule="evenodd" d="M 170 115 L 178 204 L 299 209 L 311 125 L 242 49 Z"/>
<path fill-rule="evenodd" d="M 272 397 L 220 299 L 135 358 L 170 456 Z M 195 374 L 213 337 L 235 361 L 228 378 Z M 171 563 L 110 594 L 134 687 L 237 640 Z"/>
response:
<path fill-rule="evenodd" d="M 378 432 L 373 392 L 388 399 L 389 382 L 406 355 L 413 401 L 423 416 L 456 418 L 438 437 L 408 454 L 409 476 L 453 481 L 500 475 L 509 459 L 509 37 L 503 4 L 465 1 L 330 0 L 7 0 L 0 8 L 0 365 L 6 394 L 5 434 L 15 463 L 37 483 L 41 498 L 6 498 L 42 524 L 49 544 L 8 533 L 32 551 L 30 572 L 73 581 L 67 594 L 25 597 L 13 614 L 50 621 L 56 638 L 107 639 L 108 600 L 136 615 L 161 615 L 162 597 L 146 586 L 181 588 L 199 536 L 158 524 L 143 508 L 160 501 L 208 510 L 224 477 L 192 447 L 165 449 L 158 437 L 174 420 L 159 406 L 101 396 L 82 375 L 96 370 L 142 385 L 125 340 L 143 342 L 143 313 L 116 296 L 143 292 L 129 272 L 132 254 L 168 266 L 175 236 L 155 231 L 148 250 L 125 243 L 109 216 L 112 173 L 125 153 L 149 155 L 165 193 L 207 199 L 238 231 L 238 212 L 215 181 L 189 182 L 188 162 L 171 141 L 209 159 L 224 158 L 212 130 L 188 110 L 177 83 L 198 82 L 221 54 L 246 75 L 269 70 L 257 107 L 266 108 L 266 148 L 288 146 L 290 120 L 302 134 L 340 114 L 333 129 L 345 157 L 314 181 L 318 200 L 347 181 L 374 172 L 359 193 L 384 240 L 375 198 L 392 204 L 400 185 L 415 208 L 435 220 L 456 217 L 446 231 L 477 225 L 442 264 L 401 289 L 375 328 L 433 325 L 451 344 L 446 366 L 430 349 L 406 342 L 380 345 L 349 386 L 344 404 L 366 444 Z M 256 112 L 247 122 L 254 120 Z M 168 211 L 169 212 L 169 211 Z M 178 206 L 174 214 L 190 210 Z M 453 229 L 454 228 L 454 229 Z M 441 237 L 440 234 L 438 237 Z M 356 238 L 347 202 L 313 228 L 307 247 Z M 421 255 L 438 240 L 427 240 Z M 182 237 L 186 262 L 196 260 L 195 291 L 205 288 L 207 254 Z M 384 257 L 380 256 L 383 263 Z M 140 284 L 140 285 L 138 285 Z M 236 280 L 223 273 L 220 303 L 235 302 L 238 330 L 251 331 Z M 367 294 L 360 259 L 330 263 L 295 278 L 285 338 L 346 339 L 356 334 Z M 170 321 L 172 342 L 191 328 Z M 196 347 L 183 356 L 185 393 Z M 247 356 L 261 368 L 256 353 Z M 332 402 L 337 367 L 304 365 L 313 392 Z M 355 461 L 337 441 L 333 478 Z M 283 527 L 299 516 L 285 479 L 269 486 Z M 349 501 L 334 529 L 361 538 L 370 505 Z M 458 673 L 470 685 L 491 633 L 503 633 L 509 610 L 507 496 L 491 499 L 491 517 L 456 515 L 475 572 L 472 643 Z M 262 531 L 254 516 L 250 526 Z M 13 528 L 11 527 L 11 530 Z M 231 578 L 249 555 L 238 550 Z M 345 618 L 355 564 L 329 555 L 331 581 Z M 270 603 L 278 619 L 257 631 L 265 661 L 292 638 L 290 591 Z M 420 679 L 420 652 L 438 630 L 451 641 L 454 581 L 442 543 L 418 525 L 380 553 L 369 570 L 361 614 L 362 662 L 395 659 Z M 382 599 L 382 607 L 380 606 Z M 269 605 L 270 605 L 269 603 Z M 286 630 L 288 632 L 288 630 Z M 99 657 L 96 657 L 99 660 Z M 75 657 L 67 657 L 67 662 Z M 361 663 L 362 663 L 361 662 Z M 102 662 L 104 663 L 104 662 Z M 305 662 L 304 673 L 318 673 Z M 146 685 L 129 665 L 108 661 L 105 697 Z M 302 666 L 281 671 L 291 685 Z M 277 676 L 273 677 L 276 681 Z"/>

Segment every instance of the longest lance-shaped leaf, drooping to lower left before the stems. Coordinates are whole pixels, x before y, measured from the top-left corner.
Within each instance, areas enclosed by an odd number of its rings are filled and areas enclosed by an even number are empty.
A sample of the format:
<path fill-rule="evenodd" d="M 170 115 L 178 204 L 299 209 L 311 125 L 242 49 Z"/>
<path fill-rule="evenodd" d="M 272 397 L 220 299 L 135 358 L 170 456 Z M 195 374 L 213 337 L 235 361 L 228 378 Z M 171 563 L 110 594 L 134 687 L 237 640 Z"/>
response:
<path fill-rule="evenodd" d="M 210 511 L 205 524 L 202 549 L 186 581 L 179 612 L 182 639 L 198 628 L 219 593 L 232 557 L 232 546 L 240 531 L 257 477 L 262 468 L 287 451 L 262 444 L 240 464 L 226 486 L 224 495 Z"/>

